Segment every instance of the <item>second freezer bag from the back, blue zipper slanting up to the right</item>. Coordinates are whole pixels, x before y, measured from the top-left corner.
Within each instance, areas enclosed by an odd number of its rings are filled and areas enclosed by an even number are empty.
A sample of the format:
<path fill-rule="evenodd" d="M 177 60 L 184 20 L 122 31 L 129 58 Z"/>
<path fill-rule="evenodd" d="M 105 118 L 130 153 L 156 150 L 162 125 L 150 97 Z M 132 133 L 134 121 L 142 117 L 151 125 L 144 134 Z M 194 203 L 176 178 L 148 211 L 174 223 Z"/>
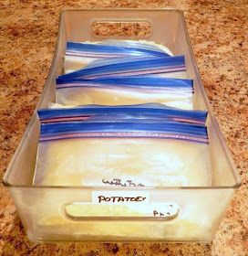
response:
<path fill-rule="evenodd" d="M 59 79 L 96 79 L 113 76 L 160 75 L 187 78 L 184 56 L 164 58 L 110 58 L 95 60 L 83 69 L 59 76 Z"/>

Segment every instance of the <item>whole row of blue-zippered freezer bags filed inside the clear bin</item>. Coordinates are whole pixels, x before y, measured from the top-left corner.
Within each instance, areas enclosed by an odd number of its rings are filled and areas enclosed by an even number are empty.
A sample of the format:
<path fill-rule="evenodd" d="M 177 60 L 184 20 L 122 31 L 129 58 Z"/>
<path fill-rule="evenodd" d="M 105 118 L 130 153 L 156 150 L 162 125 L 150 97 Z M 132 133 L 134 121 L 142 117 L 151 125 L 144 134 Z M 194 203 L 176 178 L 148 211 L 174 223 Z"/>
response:
<path fill-rule="evenodd" d="M 38 112 L 35 184 L 208 186 L 207 114 L 192 111 L 185 71 L 152 42 L 67 42 L 56 105 Z"/>

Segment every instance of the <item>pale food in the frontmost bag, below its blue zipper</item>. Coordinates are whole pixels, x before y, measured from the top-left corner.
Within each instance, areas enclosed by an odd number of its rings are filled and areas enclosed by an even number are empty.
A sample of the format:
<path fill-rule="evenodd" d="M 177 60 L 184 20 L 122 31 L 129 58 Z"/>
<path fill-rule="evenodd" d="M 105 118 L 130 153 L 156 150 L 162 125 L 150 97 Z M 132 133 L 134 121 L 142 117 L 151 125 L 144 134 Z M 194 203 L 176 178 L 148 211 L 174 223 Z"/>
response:
<path fill-rule="evenodd" d="M 171 139 L 74 138 L 38 146 L 35 185 L 106 186 L 103 179 L 113 178 L 146 187 L 210 186 L 208 144 Z"/>

